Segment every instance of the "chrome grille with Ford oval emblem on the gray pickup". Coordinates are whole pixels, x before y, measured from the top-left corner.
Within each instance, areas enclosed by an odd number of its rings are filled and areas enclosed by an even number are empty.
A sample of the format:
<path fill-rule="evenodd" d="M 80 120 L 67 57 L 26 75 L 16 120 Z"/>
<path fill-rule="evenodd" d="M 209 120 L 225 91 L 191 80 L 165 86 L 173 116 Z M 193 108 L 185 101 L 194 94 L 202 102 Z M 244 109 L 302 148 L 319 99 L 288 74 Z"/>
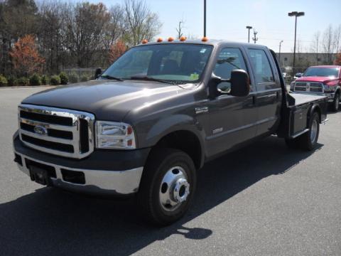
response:
<path fill-rule="evenodd" d="M 75 110 L 19 105 L 19 135 L 33 149 L 81 159 L 94 151 L 94 115 Z"/>

